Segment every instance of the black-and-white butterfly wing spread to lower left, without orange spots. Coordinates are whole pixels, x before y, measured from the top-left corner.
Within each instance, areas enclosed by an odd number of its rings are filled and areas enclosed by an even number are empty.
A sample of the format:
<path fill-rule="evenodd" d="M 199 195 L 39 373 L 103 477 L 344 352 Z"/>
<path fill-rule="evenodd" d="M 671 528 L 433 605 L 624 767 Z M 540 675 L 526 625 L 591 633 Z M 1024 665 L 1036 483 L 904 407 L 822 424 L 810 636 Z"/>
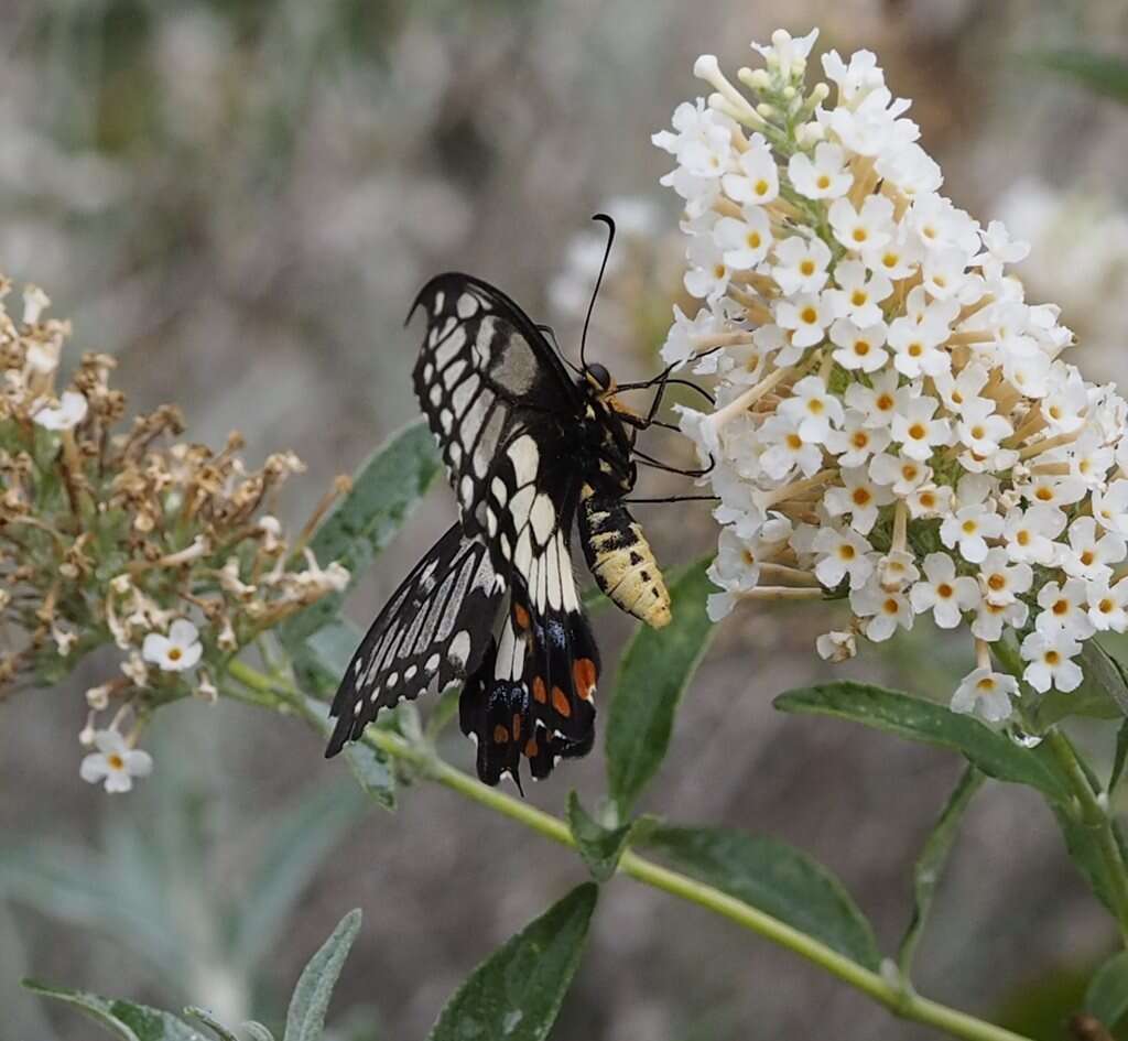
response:
<path fill-rule="evenodd" d="M 333 700 L 326 756 L 354 741 L 380 708 L 473 673 L 490 645 L 505 581 L 481 539 L 451 527 L 380 611 Z"/>

